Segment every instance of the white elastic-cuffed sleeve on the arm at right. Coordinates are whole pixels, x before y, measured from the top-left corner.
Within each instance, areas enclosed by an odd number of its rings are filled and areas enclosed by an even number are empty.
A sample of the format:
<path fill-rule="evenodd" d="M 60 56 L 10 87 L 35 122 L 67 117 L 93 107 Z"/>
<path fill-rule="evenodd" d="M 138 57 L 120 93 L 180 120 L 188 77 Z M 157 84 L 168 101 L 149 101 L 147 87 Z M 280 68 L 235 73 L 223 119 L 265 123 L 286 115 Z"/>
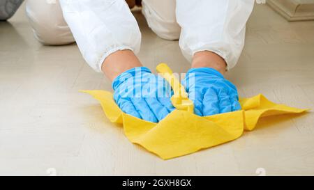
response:
<path fill-rule="evenodd" d="M 244 47 L 246 22 L 254 0 L 177 0 L 180 47 L 191 61 L 200 51 L 223 57 L 227 70 L 236 65 Z"/>

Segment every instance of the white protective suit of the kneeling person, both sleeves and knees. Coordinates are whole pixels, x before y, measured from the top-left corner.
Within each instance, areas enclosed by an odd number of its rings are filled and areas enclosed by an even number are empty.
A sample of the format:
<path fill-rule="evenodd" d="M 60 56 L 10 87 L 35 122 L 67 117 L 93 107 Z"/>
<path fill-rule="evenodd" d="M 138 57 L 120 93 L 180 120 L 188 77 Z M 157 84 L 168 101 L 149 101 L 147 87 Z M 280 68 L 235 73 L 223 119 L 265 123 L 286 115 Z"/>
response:
<path fill-rule="evenodd" d="M 149 27 L 160 38 L 179 39 L 189 61 L 195 52 L 211 51 L 230 69 L 244 47 L 254 0 L 143 0 L 142 5 Z M 84 59 L 97 72 L 117 50 L 140 51 L 140 29 L 124 0 L 28 0 L 27 15 L 44 44 L 67 44 L 74 36 Z"/>

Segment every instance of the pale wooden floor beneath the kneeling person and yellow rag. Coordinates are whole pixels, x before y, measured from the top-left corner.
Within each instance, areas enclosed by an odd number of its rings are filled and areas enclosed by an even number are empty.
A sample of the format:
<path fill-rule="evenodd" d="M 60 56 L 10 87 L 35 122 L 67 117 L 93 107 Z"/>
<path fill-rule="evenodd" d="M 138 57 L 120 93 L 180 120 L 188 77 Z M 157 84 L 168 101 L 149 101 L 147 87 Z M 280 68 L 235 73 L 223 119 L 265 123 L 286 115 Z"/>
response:
<path fill-rule="evenodd" d="M 139 56 L 153 69 L 186 72 L 177 41 L 158 38 L 140 14 Z M 314 104 L 314 22 L 286 22 L 257 5 L 246 47 L 227 74 L 242 97 L 263 93 L 300 108 Z M 0 175 L 314 175 L 314 115 L 262 120 L 231 143 L 163 161 L 131 144 L 80 89 L 111 90 L 76 45 L 45 47 L 21 8 L 0 22 Z"/>

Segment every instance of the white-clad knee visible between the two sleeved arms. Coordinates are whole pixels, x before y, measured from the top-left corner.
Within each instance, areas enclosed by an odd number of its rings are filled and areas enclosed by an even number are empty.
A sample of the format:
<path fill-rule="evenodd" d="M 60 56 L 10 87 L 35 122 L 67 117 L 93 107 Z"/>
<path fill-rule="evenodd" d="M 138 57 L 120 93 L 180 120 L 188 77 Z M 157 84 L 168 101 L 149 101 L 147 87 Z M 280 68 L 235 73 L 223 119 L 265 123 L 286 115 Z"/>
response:
<path fill-rule="evenodd" d="M 142 13 L 152 31 L 160 38 L 178 40 L 181 27 L 177 23 L 175 0 L 143 0 Z"/>

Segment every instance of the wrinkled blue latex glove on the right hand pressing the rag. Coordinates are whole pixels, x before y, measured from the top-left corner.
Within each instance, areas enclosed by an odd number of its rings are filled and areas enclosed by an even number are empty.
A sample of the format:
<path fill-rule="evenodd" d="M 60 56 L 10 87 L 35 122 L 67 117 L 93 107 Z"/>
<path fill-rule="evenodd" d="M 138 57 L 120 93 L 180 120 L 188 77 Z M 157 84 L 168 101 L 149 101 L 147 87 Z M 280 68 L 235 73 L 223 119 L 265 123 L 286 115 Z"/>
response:
<path fill-rule="evenodd" d="M 212 68 L 188 70 L 182 82 L 194 102 L 194 113 L 211 116 L 241 109 L 237 88 Z"/>

